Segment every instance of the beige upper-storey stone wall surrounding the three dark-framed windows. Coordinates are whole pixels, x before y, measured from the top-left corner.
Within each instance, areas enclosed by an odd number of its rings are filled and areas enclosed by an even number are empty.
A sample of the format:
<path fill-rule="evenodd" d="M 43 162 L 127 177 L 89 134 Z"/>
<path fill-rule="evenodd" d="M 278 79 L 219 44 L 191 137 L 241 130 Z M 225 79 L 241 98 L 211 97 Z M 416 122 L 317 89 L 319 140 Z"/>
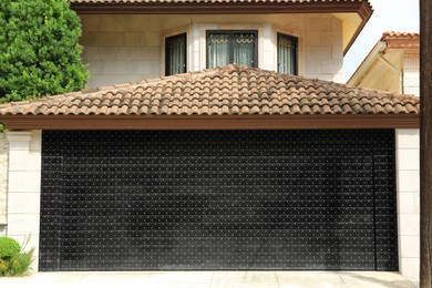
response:
<path fill-rule="evenodd" d="M 277 70 L 277 33 L 299 39 L 299 74 L 343 82 L 342 22 L 329 14 L 81 16 L 89 89 L 164 75 L 165 38 L 187 33 L 188 71 L 206 68 L 206 30 L 257 30 L 258 66 Z"/>

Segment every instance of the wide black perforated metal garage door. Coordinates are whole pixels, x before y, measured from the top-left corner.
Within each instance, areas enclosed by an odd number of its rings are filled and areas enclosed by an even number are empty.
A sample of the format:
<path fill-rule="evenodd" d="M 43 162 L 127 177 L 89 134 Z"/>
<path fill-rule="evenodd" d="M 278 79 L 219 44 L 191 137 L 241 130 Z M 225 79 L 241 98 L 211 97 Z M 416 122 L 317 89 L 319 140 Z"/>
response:
<path fill-rule="evenodd" d="M 40 270 L 395 270 L 393 131 L 44 132 Z"/>

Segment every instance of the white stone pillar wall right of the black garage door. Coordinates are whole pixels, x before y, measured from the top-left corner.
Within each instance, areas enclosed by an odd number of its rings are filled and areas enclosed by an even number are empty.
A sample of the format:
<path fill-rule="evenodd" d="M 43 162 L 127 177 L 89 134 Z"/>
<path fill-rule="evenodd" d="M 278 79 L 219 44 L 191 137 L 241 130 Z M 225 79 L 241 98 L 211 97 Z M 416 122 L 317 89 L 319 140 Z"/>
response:
<path fill-rule="evenodd" d="M 420 138 L 419 130 L 397 130 L 399 269 L 419 280 Z"/>

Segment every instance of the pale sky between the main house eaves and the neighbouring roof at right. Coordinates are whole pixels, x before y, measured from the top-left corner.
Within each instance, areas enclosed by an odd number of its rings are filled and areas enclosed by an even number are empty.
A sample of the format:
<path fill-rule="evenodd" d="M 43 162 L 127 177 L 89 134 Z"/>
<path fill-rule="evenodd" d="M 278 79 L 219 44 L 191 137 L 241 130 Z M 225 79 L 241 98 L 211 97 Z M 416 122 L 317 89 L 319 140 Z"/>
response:
<path fill-rule="evenodd" d="M 384 31 L 419 32 L 419 0 L 369 0 L 372 17 L 343 59 L 346 81 L 369 54 Z"/>

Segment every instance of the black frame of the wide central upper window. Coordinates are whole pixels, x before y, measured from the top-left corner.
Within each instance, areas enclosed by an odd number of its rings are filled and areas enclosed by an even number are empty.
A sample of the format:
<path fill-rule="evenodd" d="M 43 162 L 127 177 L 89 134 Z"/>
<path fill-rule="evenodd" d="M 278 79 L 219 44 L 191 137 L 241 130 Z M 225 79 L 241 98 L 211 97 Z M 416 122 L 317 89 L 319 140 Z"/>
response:
<path fill-rule="evenodd" d="M 234 63 L 234 34 L 236 33 L 253 33 L 255 35 L 254 42 L 254 65 L 251 68 L 258 68 L 258 30 L 206 30 L 206 69 L 209 69 L 209 37 L 210 34 L 229 34 L 229 61 L 228 64 Z M 237 63 L 238 64 L 238 63 Z"/>

